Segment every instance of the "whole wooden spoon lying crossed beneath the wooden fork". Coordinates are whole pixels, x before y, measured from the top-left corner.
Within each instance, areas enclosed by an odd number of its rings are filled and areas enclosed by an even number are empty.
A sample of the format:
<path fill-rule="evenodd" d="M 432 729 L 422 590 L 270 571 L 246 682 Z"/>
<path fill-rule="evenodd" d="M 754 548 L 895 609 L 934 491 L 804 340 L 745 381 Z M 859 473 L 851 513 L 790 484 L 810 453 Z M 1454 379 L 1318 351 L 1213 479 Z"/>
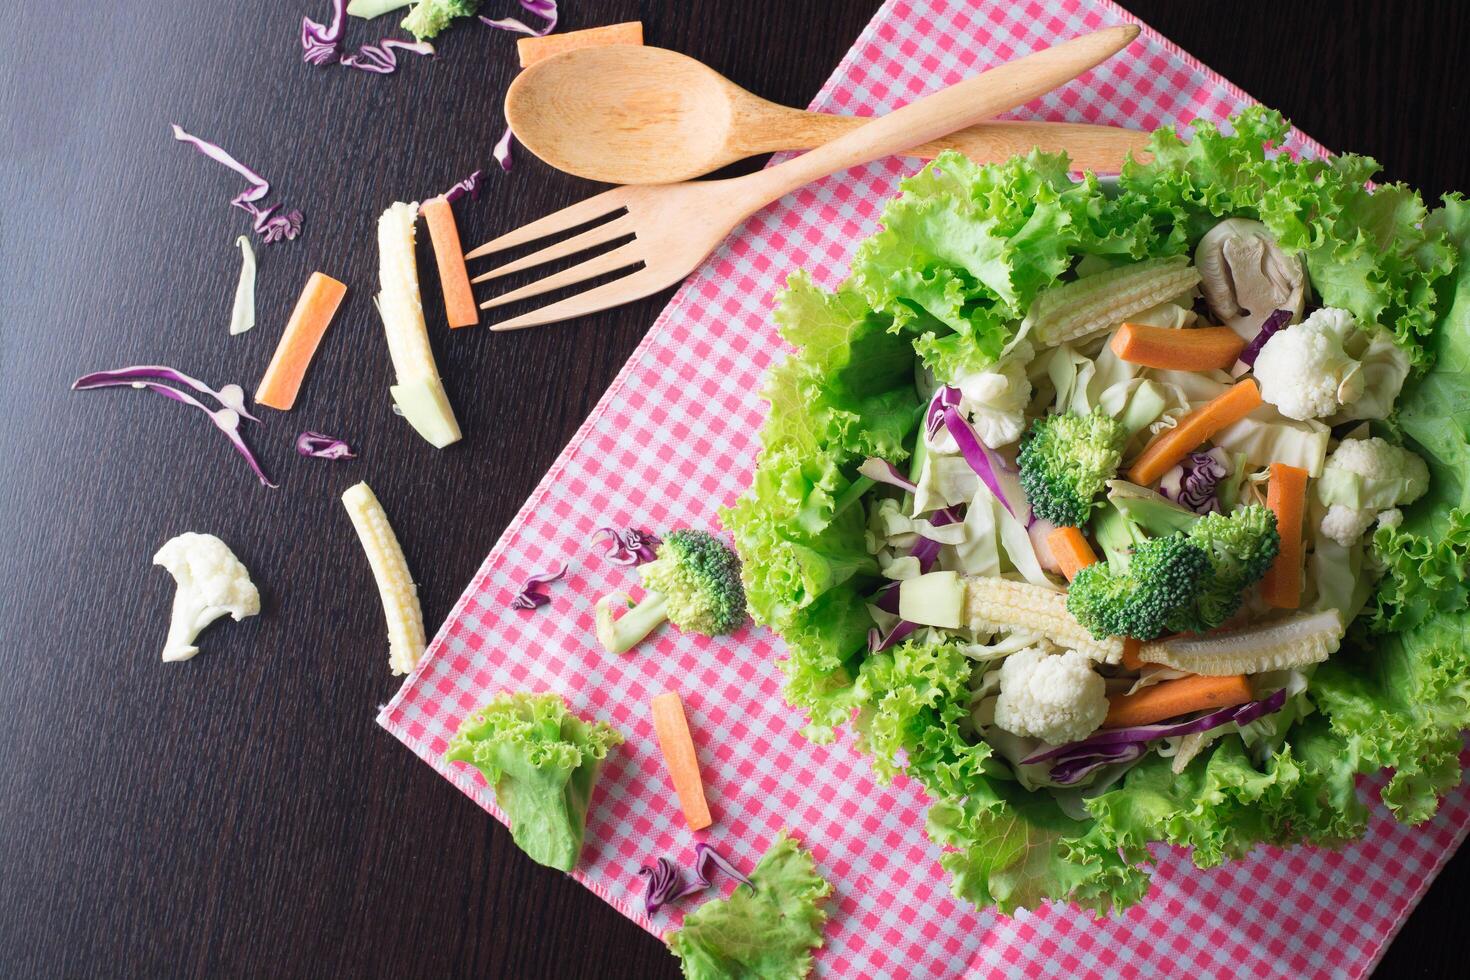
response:
<path fill-rule="evenodd" d="M 759 153 L 810 150 L 866 125 L 861 116 L 788 109 L 753 96 L 692 57 L 616 44 L 566 51 L 520 72 L 506 118 L 528 150 L 559 170 L 609 184 L 672 184 Z M 986 163 L 1039 147 L 1078 169 L 1117 173 L 1147 134 L 1070 122 L 986 122 L 906 150 Z"/>

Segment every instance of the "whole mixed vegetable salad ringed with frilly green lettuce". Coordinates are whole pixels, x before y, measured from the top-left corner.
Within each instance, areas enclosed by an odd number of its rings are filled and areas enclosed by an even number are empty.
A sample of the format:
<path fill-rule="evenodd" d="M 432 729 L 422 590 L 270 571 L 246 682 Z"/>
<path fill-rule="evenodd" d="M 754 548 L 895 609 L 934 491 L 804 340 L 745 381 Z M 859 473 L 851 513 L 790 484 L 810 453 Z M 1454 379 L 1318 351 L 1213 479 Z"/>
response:
<path fill-rule="evenodd" d="M 957 896 L 1105 912 L 1407 823 L 1470 726 L 1470 203 L 1161 129 L 1116 184 L 947 154 L 776 322 L 723 511 L 807 735 L 932 798 Z"/>

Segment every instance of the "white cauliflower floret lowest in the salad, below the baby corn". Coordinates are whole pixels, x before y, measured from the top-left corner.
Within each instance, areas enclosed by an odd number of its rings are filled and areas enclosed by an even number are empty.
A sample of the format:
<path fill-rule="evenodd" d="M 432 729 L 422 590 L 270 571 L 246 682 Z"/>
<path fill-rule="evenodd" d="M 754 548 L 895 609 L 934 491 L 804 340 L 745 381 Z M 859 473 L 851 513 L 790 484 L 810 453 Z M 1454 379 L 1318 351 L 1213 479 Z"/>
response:
<path fill-rule="evenodd" d="M 1029 646 L 1001 666 L 995 724 L 1051 745 L 1092 735 L 1107 717 L 1107 685 L 1085 654 Z"/>

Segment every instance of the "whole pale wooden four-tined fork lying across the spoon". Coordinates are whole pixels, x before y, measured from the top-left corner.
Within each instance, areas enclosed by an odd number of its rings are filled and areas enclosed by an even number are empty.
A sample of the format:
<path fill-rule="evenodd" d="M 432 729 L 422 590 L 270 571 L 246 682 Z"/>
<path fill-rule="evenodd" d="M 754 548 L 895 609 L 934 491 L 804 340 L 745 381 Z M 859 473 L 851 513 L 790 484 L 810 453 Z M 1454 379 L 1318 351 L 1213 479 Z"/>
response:
<path fill-rule="evenodd" d="M 626 213 L 541 251 L 491 269 L 476 276 L 475 282 L 575 256 L 625 235 L 634 235 L 634 239 L 570 269 L 551 273 L 544 279 L 481 303 L 481 309 L 490 310 L 639 263 L 641 269 L 620 279 L 604 282 L 531 313 L 522 313 L 492 325 L 491 329 L 513 331 L 556 323 L 641 300 L 689 275 L 736 225 L 798 187 L 836 170 L 845 170 L 938 140 L 956 129 L 1023 106 L 1107 60 L 1127 47 L 1135 37 L 1138 37 L 1136 26 L 1113 26 L 1028 54 L 903 109 L 895 109 L 832 143 L 756 173 L 723 181 L 614 187 L 564 207 L 554 215 L 547 215 L 494 238 L 469 251 L 465 257 L 478 259 L 547 235 L 570 231 L 614 212 Z"/>

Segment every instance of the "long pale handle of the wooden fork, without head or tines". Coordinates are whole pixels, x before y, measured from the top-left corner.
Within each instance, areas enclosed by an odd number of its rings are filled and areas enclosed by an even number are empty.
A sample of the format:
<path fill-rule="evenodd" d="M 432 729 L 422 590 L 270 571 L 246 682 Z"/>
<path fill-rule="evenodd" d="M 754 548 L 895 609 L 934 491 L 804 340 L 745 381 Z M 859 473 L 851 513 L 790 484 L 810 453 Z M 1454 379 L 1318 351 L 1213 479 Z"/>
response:
<path fill-rule="evenodd" d="M 879 116 L 832 143 L 731 181 L 742 184 L 751 212 L 819 178 L 972 126 L 1023 106 L 1119 53 L 1138 37 L 1133 25 L 1083 34 L 942 88 Z M 732 188 L 735 190 L 735 188 Z"/>

